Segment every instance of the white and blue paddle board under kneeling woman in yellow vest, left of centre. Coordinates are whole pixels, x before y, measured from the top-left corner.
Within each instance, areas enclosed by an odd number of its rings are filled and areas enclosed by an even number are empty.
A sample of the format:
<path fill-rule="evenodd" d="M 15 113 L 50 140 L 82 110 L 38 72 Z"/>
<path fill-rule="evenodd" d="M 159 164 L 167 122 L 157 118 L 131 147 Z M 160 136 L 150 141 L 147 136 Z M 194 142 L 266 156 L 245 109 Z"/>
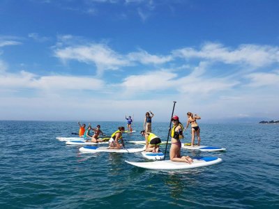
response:
<path fill-rule="evenodd" d="M 98 152 L 106 152 L 106 153 L 139 153 L 145 150 L 145 146 L 143 148 L 128 148 L 128 149 L 108 149 L 107 147 L 101 146 L 84 146 L 80 148 L 80 152 L 82 153 L 98 153 Z"/>

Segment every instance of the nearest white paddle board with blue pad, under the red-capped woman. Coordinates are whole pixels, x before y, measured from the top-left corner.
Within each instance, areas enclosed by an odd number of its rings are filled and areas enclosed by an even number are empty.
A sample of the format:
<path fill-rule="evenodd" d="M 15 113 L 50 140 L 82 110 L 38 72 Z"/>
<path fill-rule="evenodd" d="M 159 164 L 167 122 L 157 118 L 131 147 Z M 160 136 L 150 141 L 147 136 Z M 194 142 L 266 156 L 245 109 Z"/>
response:
<path fill-rule="evenodd" d="M 180 170 L 210 166 L 212 164 L 222 162 L 222 159 L 219 157 L 193 157 L 192 164 L 188 164 L 186 162 L 173 162 L 171 160 L 161 160 L 153 162 L 129 162 L 125 160 L 125 162 L 127 162 L 128 164 L 132 164 L 135 167 L 140 167 L 143 169 Z"/>

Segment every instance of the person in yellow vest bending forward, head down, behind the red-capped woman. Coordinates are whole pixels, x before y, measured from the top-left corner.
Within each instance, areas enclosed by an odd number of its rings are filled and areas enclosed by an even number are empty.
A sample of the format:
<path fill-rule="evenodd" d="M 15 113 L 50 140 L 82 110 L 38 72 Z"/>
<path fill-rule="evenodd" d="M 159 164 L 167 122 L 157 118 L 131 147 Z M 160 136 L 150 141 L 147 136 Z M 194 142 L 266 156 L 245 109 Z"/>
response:
<path fill-rule="evenodd" d="M 145 132 L 145 130 L 142 130 L 140 134 L 145 138 L 145 151 L 158 153 L 159 146 L 162 143 L 161 139 L 151 132 Z"/>

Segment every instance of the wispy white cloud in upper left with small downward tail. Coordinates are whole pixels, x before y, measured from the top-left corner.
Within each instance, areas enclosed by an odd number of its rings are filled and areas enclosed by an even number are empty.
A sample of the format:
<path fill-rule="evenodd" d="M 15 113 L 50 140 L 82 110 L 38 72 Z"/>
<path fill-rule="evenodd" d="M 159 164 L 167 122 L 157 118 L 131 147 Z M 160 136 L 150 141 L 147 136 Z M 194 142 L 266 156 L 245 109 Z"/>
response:
<path fill-rule="evenodd" d="M 94 63 L 98 70 L 97 75 L 102 75 L 104 70 L 117 70 L 130 65 L 121 54 L 117 54 L 106 45 L 101 44 L 56 49 L 54 54 L 62 61 L 77 60 L 83 63 Z"/>

